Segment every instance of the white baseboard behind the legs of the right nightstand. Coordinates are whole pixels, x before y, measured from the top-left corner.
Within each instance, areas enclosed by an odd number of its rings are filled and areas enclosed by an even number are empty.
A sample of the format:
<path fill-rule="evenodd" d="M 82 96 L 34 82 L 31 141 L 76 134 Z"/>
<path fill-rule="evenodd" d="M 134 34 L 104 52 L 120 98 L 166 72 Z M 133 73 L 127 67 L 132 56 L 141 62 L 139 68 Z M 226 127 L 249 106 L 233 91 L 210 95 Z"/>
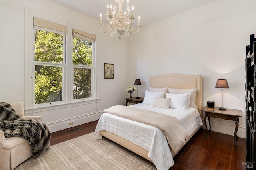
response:
<path fill-rule="evenodd" d="M 207 124 L 207 128 L 209 130 L 208 119 L 206 119 L 206 124 Z M 220 122 L 220 121 L 213 120 L 211 118 L 211 131 L 234 136 L 235 127 L 236 127 L 235 123 L 232 124 L 229 122 L 228 123 Z M 205 129 L 205 126 L 203 126 L 203 128 Z M 245 126 L 239 125 L 239 128 L 237 130 L 237 136 L 240 138 L 246 137 Z"/>

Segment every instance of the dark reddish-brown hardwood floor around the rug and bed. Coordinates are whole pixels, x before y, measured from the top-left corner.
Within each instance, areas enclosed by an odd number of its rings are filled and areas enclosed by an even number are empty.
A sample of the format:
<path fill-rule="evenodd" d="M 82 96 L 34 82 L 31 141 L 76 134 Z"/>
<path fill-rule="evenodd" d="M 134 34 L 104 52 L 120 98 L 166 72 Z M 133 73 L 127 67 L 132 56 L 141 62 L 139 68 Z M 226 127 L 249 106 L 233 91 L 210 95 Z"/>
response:
<path fill-rule="evenodd" d="M 94 132 L 98 121 L 51 133 L 51 145 Z M 71 133 L 68 130 L 80 128 Z M 234 146 L 233 136 L 210 132 L 204 138 L 205 129 L 200 129 L 188 143 L 174 156 L 174 166 L 170 170 L 245 170 L 245 139 L 237 140 Z"/>

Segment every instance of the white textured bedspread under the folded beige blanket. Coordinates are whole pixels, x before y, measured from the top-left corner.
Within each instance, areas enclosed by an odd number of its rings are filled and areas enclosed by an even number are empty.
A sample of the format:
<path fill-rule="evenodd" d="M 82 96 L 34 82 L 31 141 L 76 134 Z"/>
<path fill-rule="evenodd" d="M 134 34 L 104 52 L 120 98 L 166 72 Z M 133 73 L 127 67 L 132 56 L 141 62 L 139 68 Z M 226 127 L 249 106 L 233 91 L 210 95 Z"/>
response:
<path fill-rule="evenodd" d="M 143 103 L 130 105 L 129 107 L 138 107 L 172 115 L 181 122 L 189 135 L 203 125 L 197 109 L 192 107 L 188 111 L 171 108 L 162 109 Z M 149 152 L 148 157 L 158 170 L 168 170 L 174 164 L 165 135 L 156 127 L 104 113 L 98 121 L 95 134 L 100 136 L 100 130 L 107 130 L 147 150 Z"/>

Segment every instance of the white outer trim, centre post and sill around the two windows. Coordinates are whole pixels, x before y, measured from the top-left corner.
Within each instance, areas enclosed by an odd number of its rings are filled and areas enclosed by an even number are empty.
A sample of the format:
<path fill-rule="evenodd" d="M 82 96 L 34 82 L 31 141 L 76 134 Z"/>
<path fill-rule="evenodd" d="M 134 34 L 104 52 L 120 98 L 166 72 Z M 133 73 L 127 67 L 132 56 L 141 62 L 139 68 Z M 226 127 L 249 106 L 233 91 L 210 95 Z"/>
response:
<path fill-rule="evenodd" d="M 73 69 L 70 68 L 66 68 L 67 72 L 66 72 L 66 77 L 65 77 L 65 81 L 66 81 L 66 88 L 64 89 L 66 91 L 66 103 L 61 103 L 58 105 L 47 105 L 47 106 L 42 106 L 42 107 L 34 107 L 33 105 L 33 100 L 34 100 L 34 84 L 33 84 L 33 71 L 34 71 L 34 23 L 33 23 L 33 18 L 34 18 L 34 14 L 33 14 L 33 10 L 29 9 L 29 8 L 25 8 L 25 77 L 24 77 L 24 109 L 26 111 L 26 114 L 32 114 L 33 112 L 40 112 L 40 111 L 48 111 L 48 110 L 52 110 L 52 109 L 60 109 L 60 108 L 65 108 L 65 107 L 73 107 L 73 106 L 77 106 L 77 105 L 85 105 L 85 104 L 91 104 L 91 103 L 98 103 L 98 101 L 100 100 L 99 98 L 97 98 L 97 94 L 96 94 L 96 66 L 95 66 L 95 43 L 94 43 L 94 50 L 93 50 L 93 73 L 92 73 L 92 81 L 93 81 L 93 85 L 92 85 L 92 90 L 93 90 L 93 97 L 89 98 L 89 99 L 81 99 L 81 100 L 74 100 L 73 101 L 73 97 L 72 99 L 68 98 L 68 96 L 70 96 L 71 94 L 73 94 L 72 91 L 72 87 L 73 87 Z M 41 18 L 46 18 L 48 20 L 49 16 L 40 16 Z M 62 23 L 63 24 L 63 23 Z M 72 43 L 72 41 L 70 41 L 70 38 L 73 39 L 72 36 L 72 28 L 70 27 L 70 25 L 72 25 L 72 23 L 68 22 L 68 34 L 66 35 L 66 67 L 72 67 L 72 64 L 68 64 L 68 62 L 72 63 L 72 58 L 70 57 L 68 59 L 67 56 L 72 56 L 72 45 L 68 45 L 68 43 Z M 68 55 L 68 53 L 71 53 Z M 69 71 L 69 72 L 68 72 Z M 69 78 L 67 78 L 69 77 Z M 70 81 L 71 79 L 71 81 Z M 71 89 L 71 90 L 68 90 Z M 71 94 L 70 94 L 71 93 Z"/>

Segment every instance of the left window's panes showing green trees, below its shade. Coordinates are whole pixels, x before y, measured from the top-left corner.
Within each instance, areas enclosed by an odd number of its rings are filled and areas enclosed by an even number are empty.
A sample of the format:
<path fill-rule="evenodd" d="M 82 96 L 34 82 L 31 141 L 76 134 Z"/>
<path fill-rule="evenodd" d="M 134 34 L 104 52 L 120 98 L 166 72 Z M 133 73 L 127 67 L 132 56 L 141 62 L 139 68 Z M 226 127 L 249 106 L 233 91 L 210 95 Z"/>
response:
<path fill-rule="evenodd" d="M 63 101 L 65 35 L 35 29 L 35 104 Z"/>

